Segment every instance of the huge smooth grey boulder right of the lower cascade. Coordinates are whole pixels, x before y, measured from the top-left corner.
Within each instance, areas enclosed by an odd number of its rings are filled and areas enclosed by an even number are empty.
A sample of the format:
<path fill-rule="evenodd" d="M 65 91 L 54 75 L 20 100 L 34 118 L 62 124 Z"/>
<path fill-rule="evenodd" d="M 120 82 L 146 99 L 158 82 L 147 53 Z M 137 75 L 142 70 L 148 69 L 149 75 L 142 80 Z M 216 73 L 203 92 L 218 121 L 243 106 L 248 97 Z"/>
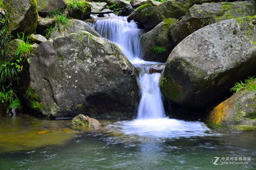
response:
<path fill-rule="evenodd" d="M 168 56 L 159 83 L 165 97 L 185 107 L 209 107 L 237 80 L 256 72 L 256 16 L 200 28 Z"/>

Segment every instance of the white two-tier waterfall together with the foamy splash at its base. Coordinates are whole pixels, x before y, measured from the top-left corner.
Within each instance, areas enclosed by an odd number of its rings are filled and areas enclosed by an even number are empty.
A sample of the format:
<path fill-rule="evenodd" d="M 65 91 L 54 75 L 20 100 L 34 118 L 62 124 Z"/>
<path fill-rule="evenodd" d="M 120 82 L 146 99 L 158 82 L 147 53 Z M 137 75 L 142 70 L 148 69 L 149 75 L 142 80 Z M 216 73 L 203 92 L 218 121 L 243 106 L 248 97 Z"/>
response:
<path fill-rule="evenodd" d="M 130 62 L 141 70 L 138 84 L 141 88 L 141 100 L 137 119 L 114 124 L 125 134 L 149 137 L 191 137 L 209 135 L 209 129 L 201 122 L 189 122 L 169 119 L 165 116 L 162 96 L 159 90 L 159 73 L 149 73 L 149 67 L 155 62 L 141 59 L 140 37 L 143 33 L 133 21 L 126 17 L 110 17 L 97 20 L 93 27 L 110 41 L 120 47 Z"/>

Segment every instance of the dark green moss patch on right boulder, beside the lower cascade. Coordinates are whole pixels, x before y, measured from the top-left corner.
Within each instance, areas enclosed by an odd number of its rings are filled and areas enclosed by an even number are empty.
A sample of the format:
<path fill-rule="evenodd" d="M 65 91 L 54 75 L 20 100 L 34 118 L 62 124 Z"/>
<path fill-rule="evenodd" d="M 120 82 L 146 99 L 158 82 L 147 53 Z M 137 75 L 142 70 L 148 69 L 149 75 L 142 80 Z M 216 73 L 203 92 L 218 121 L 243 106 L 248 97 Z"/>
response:
<path fill-rule="evenodd" d="M 167 98 L 178 100 L 182 97 L 182 89 L 180 89 L 178 85 L 175 85 L 173 82 L 168 81 L 168 79 L 165 77 L 159 82 L 159 87 L 161 92 Z"/>

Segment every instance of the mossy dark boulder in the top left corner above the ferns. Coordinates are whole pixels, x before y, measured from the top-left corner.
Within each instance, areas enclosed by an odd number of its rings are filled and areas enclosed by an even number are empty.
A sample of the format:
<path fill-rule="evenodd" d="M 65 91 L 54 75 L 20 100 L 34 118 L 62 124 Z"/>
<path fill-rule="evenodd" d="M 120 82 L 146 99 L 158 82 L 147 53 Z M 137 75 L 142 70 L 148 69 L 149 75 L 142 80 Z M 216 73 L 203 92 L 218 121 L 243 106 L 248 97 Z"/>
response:
<path fill-rule="evenodd" d="M 38 25 L 37 0 L 6 0 L 8 28 L 11 34 L 25 33 L 29 35 L 36 31 Z"/>

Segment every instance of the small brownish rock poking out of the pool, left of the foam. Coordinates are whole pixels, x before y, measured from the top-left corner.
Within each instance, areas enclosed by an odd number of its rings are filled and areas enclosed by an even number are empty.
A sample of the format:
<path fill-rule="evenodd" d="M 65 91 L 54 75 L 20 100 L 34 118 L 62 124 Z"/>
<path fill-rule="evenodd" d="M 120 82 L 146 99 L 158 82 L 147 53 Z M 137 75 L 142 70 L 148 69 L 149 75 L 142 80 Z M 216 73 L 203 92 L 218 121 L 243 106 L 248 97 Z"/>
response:
<path fill-rule="evenodd" d="M 99 129 L 101 128 L 101 123 L 89 116 L 84 116 L 83 114 L 79 114 L 75 116 L 72 120 L 72 124 L 84 126 L 89 129 Z"/>

